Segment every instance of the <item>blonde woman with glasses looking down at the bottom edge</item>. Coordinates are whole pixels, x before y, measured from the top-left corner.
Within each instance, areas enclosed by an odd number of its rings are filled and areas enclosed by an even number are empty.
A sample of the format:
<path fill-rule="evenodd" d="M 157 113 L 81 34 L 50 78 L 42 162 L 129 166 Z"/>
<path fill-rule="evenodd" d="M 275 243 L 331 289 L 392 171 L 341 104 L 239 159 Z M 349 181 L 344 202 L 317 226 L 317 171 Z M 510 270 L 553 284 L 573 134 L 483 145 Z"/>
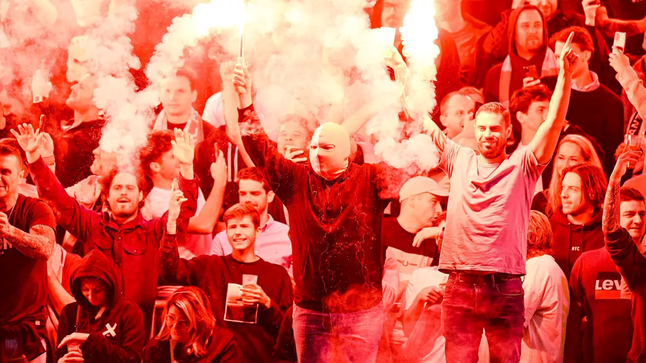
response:
<path fill-rule="evenodd" d="M 144 363 L 238 363 L 233 333 L 216 326 L 205 293 L 182 287 L 168 299 L 160 333 L 143 352 Z"/>

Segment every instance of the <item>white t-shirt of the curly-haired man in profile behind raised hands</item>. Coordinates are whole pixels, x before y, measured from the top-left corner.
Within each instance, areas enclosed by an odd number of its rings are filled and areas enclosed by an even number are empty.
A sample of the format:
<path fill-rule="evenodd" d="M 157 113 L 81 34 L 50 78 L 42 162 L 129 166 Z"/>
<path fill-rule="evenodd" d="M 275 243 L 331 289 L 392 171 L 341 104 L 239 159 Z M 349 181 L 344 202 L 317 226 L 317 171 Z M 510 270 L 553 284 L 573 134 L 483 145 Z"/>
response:
<path fill-rule="evenodd" d="M 152 191 L 146 197 L 146 207 L 147 211 L 151 213 L 152 218 L 161 218 L 164 213 L 168 211 L 168 201 L 171 198 L 171 191 L 166 189 L 161 189 L 158 187 L 153 187 Z M 198 188 L 198 207 L 196 209 L 196 214 L 200 213 L 204 207 L 204 195 L 202 191 Z M 185 240 L 180 242 L 178 245 L 178 250 L 180 251 L 180 258 L 190 260 L 193 257 L 202 256 L 202 254 L 207 254 L 211 249 L 211 241 L 213 237 L 211 233 L 208 234 L 193 234 L 187 233 Z"/>

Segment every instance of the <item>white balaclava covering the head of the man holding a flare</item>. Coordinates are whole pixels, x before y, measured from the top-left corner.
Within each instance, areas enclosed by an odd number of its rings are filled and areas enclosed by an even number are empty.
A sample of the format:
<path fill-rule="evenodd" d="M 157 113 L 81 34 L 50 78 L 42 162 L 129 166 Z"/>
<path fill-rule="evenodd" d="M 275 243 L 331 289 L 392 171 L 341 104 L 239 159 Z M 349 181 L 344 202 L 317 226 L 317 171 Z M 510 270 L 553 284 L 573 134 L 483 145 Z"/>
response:
<path fill-rule="evenodd" d="M 350 136 L 338 123 L 320 125 L 309 144 L 309 160 L 312 169 L 327 180 L 335 180 L 348 169 Z"/>

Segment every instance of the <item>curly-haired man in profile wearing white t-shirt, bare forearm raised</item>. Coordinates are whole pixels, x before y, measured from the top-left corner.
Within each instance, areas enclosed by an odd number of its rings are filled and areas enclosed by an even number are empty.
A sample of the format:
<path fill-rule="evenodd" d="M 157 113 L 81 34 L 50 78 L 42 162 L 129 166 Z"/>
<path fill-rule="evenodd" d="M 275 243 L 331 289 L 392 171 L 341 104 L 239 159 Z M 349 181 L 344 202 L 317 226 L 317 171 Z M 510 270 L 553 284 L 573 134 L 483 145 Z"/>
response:
<path fill-rule="evenodd" d="M 152 218 L 160 218 L 168 211 L 173 180 L 178 178 L 180 164 L 174 158 L 172 149 L 173 134 L 170 130 L 153 131 L 147 145 L 141 150 L 140 161 L 152 189 L 145 199 L 145 209 Z M 185 240 L 180 244 L 180 257 L 187 260 L 209 253 L 216 220 L 222 213 L 222 198 L 226 182 L 226 166 L 222 152 L 211 165 L 214 179 L 209 198 L 204 200 L 198 189 L 198 207 L 195 216 L 189 220 Z"/>

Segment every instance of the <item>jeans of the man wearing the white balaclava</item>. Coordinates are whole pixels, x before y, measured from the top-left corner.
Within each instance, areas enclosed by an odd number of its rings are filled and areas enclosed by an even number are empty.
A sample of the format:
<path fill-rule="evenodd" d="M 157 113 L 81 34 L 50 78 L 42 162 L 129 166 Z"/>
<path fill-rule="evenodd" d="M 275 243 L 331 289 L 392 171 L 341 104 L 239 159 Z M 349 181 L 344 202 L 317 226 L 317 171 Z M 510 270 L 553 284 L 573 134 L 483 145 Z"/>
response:
<path fill-rule="evenodd" d="M 384 306 L 356 313 L 324 313 L 294 306 L 299 363 L 373 363 L 384 327 Z"/>

